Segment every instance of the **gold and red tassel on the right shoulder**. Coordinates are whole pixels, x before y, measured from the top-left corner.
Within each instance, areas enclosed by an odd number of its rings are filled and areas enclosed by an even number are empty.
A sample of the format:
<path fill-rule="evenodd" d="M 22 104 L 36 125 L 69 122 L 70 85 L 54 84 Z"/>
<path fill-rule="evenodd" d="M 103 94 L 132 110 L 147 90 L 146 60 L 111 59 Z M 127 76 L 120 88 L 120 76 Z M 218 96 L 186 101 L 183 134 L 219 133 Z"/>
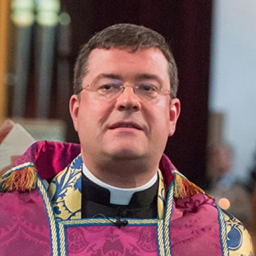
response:
<path fill-rule="evenodd" d="M 174 175 L 174 181 L 174 197 L 176 199 L 184 199 L 186 197 L 193 196 L 198 193 L 205 194 L 203 189 L 201 189 L 196 184 L 187 180 L 185 177 L 181 177 L 178 174 Z"/>

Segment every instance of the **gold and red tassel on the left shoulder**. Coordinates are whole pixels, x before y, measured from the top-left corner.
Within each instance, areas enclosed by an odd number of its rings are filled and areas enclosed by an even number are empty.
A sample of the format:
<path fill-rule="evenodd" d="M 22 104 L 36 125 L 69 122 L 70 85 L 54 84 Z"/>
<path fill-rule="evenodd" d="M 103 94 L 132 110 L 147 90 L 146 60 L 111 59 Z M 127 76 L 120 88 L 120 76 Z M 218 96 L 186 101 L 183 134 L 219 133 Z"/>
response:
<path fill-rule="evenodd" d="M 31 191 L 36 188 L 37 176 L 34 167 L 25 167 L 0 178 L 0 192 Z"/>

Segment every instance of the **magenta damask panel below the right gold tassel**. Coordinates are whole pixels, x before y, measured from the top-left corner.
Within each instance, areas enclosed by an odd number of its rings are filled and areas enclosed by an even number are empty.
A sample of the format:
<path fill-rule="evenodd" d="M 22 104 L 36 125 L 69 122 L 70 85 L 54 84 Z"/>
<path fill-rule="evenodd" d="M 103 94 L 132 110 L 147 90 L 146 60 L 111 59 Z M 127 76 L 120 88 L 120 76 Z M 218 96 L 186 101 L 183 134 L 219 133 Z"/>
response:
<path fill-rule="evenodd" d="M 175 200 L 170 234 L 173 255 L 222 255 L 217 209 L 203 194 Z"/>

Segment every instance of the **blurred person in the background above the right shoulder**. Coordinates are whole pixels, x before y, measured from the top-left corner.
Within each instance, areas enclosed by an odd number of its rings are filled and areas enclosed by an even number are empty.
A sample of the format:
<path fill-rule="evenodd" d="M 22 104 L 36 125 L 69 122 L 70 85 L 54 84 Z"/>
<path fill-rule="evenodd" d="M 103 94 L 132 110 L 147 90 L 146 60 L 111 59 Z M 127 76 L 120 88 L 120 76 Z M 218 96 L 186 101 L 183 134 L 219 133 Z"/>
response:
<path fill-rule="evenodd" d="M 234 154 L 228 143 L 210 147 L 208 155 L 209 194 L 248 228 L 253 222 L 251 195 L 246 185 L 232 172 Z"/>

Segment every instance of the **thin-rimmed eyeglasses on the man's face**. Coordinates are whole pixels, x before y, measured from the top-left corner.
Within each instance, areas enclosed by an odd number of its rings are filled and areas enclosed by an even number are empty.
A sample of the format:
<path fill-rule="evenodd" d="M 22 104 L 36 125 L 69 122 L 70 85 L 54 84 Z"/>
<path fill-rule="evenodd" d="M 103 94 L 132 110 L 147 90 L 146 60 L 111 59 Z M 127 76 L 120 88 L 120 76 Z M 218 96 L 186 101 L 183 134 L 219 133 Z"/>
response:
<path fill-rule="evenodd" d="M 133 88 L 137 97 L 143 100 L 153 100 L 161 94 L 170 94 L 170 89 L 162 88 L 162 85 L 158 82 L 139 81 L 135 82 L 134 85 L 129 85 L 121 80 L 106 81 L 106 79 L 104 79 L 104 81 L 98 81 L 96 84 L 86 85 L 76 94 L 79 94 L 84 89 L 88 89 L 92 92 L 96 92 L 100 97 L 114 98 L 120 96 L 127 87 Z"/>

